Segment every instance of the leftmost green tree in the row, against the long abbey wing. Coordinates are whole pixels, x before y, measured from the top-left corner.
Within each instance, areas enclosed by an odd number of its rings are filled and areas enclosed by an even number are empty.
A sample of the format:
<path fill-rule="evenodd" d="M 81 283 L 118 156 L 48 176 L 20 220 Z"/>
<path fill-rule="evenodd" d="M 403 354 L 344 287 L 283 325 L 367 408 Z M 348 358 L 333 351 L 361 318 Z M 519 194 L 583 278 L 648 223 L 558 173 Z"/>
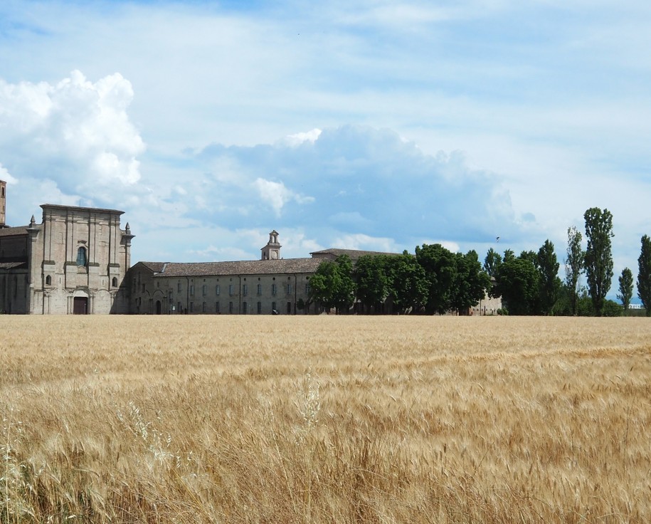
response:
<path fill-rule="evenodd" d="M 336 261 L 323 261 L 309 279 L 309 298 L 325 308 L 336 308 L 337 313 L 349 310 L 355 300 L 352 262 L 347 255 Z"/>

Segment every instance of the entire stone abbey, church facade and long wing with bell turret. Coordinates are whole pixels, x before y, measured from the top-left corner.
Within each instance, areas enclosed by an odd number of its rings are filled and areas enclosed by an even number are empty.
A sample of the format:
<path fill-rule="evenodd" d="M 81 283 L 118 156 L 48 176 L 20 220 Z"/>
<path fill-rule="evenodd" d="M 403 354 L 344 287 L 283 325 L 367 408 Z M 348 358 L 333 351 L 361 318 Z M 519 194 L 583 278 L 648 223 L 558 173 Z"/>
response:
<path fill-rule="evenodd" d="M 0 313 L 316 313 L 309 278 L 323 258 L 344 252 L 282 258 L 278 232 L 271 231 L 258 261 L 132 267 L 134 235 L 128 223 L 120 227 L 123 211 L 43 204 L 40 223 L 32 216 L 26 226 L 9 227 L 5 206 L 0 181 Z"/>

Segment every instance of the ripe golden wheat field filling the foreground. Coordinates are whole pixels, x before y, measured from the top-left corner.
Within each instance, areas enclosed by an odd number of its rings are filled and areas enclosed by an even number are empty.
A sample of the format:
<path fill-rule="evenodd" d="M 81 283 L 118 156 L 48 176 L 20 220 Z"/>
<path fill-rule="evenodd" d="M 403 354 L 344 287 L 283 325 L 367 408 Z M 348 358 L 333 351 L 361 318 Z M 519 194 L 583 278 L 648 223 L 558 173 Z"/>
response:
<path fill-rule="evenodd" d="M 645 523 L 645 318 L 2 317 L 1 523 Z"/>

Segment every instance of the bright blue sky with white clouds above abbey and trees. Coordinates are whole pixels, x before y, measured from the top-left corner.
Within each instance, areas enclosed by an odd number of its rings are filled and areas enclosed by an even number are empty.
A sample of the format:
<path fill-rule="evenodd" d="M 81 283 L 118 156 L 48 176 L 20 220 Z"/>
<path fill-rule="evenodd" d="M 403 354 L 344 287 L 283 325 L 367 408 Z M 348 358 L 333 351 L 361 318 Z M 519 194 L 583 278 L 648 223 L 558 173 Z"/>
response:
<path fill-rule="evenodd" d="M 122 209 L 134 261 L 258 258 L 271 229 L 285 257 L 562 261 L 598 206 L 637 273 L 650 26 L 637 0 L 4 1 L 7 221 Z"/>

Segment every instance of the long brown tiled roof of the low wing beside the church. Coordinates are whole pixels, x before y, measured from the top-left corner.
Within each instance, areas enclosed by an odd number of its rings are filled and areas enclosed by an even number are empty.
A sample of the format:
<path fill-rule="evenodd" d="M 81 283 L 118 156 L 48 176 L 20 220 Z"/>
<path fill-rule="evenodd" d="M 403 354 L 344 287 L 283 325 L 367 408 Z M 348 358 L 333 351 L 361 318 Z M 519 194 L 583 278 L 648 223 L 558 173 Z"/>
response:
<path fill-rule="evenodd" d="M 145 263 L 148 267 L 159 264 L 157 276 L 213 276 L 213 275 L 275 275 L 314 273 L 322 260 L 319 258 L 280 258 L 280 260 L 253 260 L 236 262 L 168 262 Z"/>

